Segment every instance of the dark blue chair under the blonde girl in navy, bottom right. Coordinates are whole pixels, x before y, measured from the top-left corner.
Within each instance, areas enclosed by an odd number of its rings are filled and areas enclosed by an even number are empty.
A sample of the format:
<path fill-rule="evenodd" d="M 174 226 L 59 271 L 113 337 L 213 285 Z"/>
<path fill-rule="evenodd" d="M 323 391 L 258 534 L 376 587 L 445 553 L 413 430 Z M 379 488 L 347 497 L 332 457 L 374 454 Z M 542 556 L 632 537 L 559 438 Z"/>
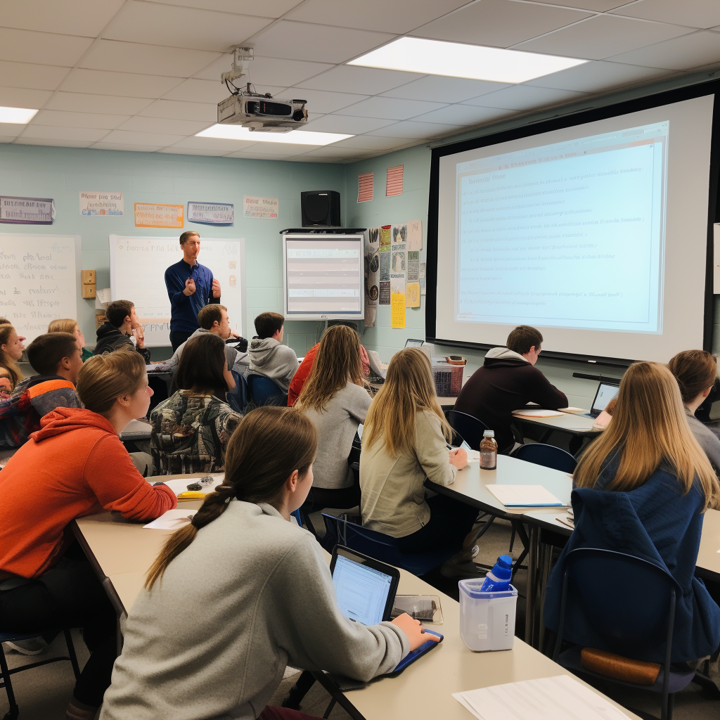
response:
<path fill-rule="evenodd" d="M 682 593 L 675 578 L 647 560 L 612 550 L 578 548 L 567 555 L 566 562 L 553 660 L 575 675 L 660 693 L 660 717 L 672 720 L 674 694 L 695 677 L 694 670 L 678 672 L 670 666 L 675 598 Z M 657 638 L 665 638 L 665 662 L 660 666 L 654 685 L 610 678 L 583 667 L 580 662 L 582 647 L 564 630 L 569 610 L 582 613 L 609 652 L 631 660 L 634 660 L 632 656 L 638 644 L 657 644 Z M 570 642 L 571 647 L 560 652 L 563 642 Z M 655 717 L 627 709 L 643 718 Z"/>

